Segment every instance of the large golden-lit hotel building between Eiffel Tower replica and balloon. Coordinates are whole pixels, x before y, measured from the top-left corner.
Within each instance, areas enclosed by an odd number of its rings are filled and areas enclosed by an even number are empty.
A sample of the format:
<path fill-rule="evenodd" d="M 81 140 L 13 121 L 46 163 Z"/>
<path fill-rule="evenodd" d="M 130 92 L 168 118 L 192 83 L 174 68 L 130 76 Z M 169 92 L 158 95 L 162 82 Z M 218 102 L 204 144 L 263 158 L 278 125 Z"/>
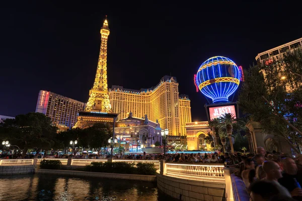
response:
<path fill-rule="evenodd" d="M 132 112 L 134 117 L 159 121 L 162 128 L 169 129 L 169 135 L 186 135 L 185 125 L 191 122 L 191 105 L 187 95 L 179 95 L 176 77 L 164 76 L 155 87 L 133 90 L 122 86 L 109 89 L 113 113 Z M 121 113 L 119 119 L 127 114 Z"/>

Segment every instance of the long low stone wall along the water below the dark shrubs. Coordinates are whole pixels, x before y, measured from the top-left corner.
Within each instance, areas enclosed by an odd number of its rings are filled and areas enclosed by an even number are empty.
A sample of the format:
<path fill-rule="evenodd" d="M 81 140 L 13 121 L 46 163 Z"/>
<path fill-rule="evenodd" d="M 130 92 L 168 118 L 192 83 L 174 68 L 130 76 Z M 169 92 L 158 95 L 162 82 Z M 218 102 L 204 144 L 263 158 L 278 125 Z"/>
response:
<path fill-rule="evenodd" d="M 105 172 L 85 172 L 73 170 L 51 170 L 51 169 L 35 169 L 35 173 L 56 174 L 63 176 L 91 176 L 102 178 L 128 179 L 138 181 L 156 181 L 155 175 L 139 175 L 139 174 L 117 174 Z"/>

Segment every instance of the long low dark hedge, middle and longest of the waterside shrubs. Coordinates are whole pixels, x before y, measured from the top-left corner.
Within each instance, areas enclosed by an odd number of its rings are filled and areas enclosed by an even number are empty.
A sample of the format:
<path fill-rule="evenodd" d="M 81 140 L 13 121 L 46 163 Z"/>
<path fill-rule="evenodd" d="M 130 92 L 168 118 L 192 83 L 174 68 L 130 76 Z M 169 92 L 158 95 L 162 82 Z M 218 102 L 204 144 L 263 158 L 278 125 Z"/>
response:
<path fill-rule="evenodd" d="M 133 174 L 134 170 L 133 164 L 126 162 L 92 162 L 85 166 L 85 171 L 90 172 Z"/>

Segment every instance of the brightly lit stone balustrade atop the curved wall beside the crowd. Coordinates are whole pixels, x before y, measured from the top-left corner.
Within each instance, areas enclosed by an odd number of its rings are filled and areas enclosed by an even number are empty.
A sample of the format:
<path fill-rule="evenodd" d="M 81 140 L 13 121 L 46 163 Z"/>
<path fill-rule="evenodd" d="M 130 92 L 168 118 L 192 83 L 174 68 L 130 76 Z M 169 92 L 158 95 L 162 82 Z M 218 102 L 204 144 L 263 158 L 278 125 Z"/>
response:
<path fill-rule="evenodd" d="M 161 174 L 178 178 L 225 182 L 223 168 L 223 164 L 205 165 L 166 163 L 165 161 L 163 161 L 163 168 L 161 168 Z"/>

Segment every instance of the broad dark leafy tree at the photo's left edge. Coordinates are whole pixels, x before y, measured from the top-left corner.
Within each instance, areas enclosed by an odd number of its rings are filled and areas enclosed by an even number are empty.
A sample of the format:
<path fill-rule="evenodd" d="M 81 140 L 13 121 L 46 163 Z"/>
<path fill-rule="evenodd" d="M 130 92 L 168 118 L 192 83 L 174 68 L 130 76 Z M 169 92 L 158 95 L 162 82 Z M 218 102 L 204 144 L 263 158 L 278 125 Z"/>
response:
<path fill-rule="evenodd" d="M 57 127 L 50 118 L 41 113 L 18 115 L 15 119 L 6 119 L 0 126 L 3 140 L 23 149 L 23 156 L 28 149 L 48 150 L 54 145 Z"/>

